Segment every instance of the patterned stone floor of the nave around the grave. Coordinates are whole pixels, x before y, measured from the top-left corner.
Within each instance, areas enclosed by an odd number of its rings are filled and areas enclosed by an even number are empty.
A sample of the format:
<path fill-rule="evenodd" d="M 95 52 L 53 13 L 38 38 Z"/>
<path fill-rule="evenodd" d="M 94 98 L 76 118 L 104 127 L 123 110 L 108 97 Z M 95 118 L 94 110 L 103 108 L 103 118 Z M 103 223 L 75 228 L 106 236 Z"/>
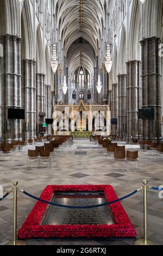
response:
<path fill-rule="evenodd" d="M 136 146 L 135 146 L 136 147 Z M 34 146 L 28 146 L 34 148 Z M 112 168 L 112 156 L 105 149 L 89 140 L 74 140 L 54 154 L 51 168 L 37 167 L 31 163 L 27 168 L 27 149 L 15 152 L 13 160 L 7 157 L 0 162 L 0 185 L 4 193 L 12 187 L 12 180 L 17 179 L 19 187 L 39 196 L 49 184 L 110 184 L 117 196 L 121 197 L 141 186 L 143 179 L 149 185 L 163 185 L 163 158 L 152 155 L 150 151 L 139 150 L 140 169 L 129 164 L 128 172 L 117 163 Z M 127 145 L 127 148 L 133 148 Z M 124 209 L 133 223 L 138 237 L 143 235 L 143 195 L 142 192 L 122 202 Z M 18 228 L 26 220 L 35 201 L 18 193 Z M 0 245 L 12 237 L 12 195 L 0 202 Z M 158 245 L 163 245 L 163 202 L 158 192 L 148 192 L 148 237 Z M 48 241 L 28 241 L 28 245 L 133 245 L 133 240 L 104 239 L 58 239 Z"/>

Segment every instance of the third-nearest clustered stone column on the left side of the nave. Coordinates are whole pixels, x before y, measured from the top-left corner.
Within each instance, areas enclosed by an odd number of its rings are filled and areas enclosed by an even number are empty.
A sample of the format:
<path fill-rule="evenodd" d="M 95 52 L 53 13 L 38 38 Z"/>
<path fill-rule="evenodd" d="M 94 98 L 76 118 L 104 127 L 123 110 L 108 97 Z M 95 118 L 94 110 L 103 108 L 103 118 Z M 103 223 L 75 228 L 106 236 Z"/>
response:
<path fill-rule="evenodd" d="M 45 123 L 45 75 L 36 74 L 36 131 L 39 132 L 39 124 Z"/>

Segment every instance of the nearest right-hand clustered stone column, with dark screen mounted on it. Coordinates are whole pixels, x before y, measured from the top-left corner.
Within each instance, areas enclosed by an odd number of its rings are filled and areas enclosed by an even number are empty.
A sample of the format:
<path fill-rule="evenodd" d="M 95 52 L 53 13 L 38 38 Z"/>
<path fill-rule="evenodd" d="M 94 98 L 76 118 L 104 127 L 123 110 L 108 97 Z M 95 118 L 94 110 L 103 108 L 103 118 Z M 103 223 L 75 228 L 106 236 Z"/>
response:
<path fill-rule="evenodd" d="M 161 137 L 161 72 L 159 44 L 160 38 L 147 38 L 140 41 L 142 63 L 142 108 L 153 107 L 154 119 L 142 121 L 142 135 L 146 139 Z"/>

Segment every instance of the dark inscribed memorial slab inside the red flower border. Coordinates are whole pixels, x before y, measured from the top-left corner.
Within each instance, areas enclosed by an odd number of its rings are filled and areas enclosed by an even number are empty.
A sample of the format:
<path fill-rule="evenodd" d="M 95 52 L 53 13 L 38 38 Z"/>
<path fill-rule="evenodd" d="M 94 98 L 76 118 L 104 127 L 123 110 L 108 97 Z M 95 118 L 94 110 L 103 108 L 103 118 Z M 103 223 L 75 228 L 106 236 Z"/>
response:
<path fill-rule="evenodd" d="M 53 203 L 63 205 L 96 205 L 106 203 L 103 192 L 55 192 Z M 108 205 L 92 209 L 68 209 L 50 205 L 42 225 L 114 224 Z"/>

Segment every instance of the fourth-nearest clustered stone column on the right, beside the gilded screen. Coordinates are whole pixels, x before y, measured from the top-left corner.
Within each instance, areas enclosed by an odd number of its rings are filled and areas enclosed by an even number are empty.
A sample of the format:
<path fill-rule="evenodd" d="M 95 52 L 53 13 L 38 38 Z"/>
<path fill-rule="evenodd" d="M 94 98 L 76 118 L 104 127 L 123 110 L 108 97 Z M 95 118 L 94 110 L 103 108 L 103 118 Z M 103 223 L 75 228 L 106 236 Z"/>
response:
<path fill-rule="evenodd" d="M 111 119 L 118 118 L 118 84 L 112 84 L 111 90 Z M 117 134 L 117 124 L 111 125 L 111 134 Z"/>

